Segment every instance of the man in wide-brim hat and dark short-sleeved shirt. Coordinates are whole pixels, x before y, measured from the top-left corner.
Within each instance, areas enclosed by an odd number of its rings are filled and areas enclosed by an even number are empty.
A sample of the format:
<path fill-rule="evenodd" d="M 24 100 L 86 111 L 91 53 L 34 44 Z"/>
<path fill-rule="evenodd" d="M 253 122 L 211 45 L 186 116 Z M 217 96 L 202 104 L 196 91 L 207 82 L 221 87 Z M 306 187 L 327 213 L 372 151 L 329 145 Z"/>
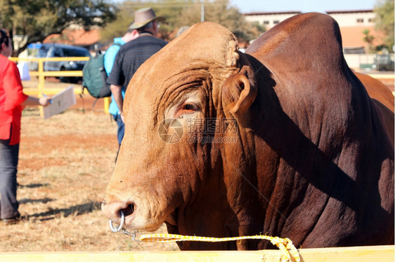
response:
<path fill-rule="evenodd" d="M 159 22 L 164 22 L 164 20 L 166 20 L 164 17 L 155 15 L 152 8 L 141 8 L 135 11 L 134 22 L 131 23 L 129 29 L 136 29 L 139 35 L 136 39 L 125 43 L 115 57 L 107 83 L 110 85 L 115 102 L 117 102 L 122 120 L 124 120 L 122 86 L 127 87 L 138 67 L 166 46 L 167 41 L 157 38 Z"/>

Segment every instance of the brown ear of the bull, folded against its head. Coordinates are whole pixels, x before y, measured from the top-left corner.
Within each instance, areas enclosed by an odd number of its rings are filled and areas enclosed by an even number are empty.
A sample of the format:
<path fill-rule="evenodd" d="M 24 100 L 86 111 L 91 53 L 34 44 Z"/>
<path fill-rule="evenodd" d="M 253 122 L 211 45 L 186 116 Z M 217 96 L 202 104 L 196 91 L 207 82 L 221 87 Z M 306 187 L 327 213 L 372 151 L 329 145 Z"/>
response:
<path fill-rule="evenodd" d="M 224 104 L 228 110 L 238 116 L 245 113 L 255 101 L 258 90 L 251 85 L 242 72 L 226 79 L 223 89 Z"/>

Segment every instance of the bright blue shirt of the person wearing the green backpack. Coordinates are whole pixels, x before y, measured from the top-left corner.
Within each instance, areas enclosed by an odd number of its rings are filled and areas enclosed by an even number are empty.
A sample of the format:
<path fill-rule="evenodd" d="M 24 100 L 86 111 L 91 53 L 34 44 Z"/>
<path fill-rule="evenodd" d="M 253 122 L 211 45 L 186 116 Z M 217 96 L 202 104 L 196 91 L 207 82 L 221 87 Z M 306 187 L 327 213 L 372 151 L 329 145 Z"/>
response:
<path fill-rule="evenodd" d="M 115 57 L 117 56 L 117 53 L 121 46 L 124 45 L 125 41 L 122 40 L 122 37 L 117 37 L 114 39 L 114 43 L 119 44 L 117 45 L 111 45 L 107 51 L 105 51 L 104 54 L 104 69 L 105 72 L 107 73 L 107 76 L 110 75 L 110 72 L 112 70 L 112 66 L 114 65 Z M 122 86 L 122 97 L 125 97 L 125 90 L 126 88 Z M 118 115 L 119 114 L 119 108 L 117 103 L 115 102 L 114 96 L 111 95 L 111 103 L 110 106 L 108 107 L 108 112 L 111 113 L 112 115 Z"/>

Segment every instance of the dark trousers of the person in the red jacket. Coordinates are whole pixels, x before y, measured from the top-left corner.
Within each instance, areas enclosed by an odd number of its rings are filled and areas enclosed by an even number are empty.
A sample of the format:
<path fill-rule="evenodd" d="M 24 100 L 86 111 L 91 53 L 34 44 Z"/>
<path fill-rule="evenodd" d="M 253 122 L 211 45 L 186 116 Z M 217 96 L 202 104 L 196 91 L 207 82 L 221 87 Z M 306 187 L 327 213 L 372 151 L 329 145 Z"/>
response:
<path fill-rule="evenodd" d="M 9 140 L 0 139 L 0 219 L 19 216 L 16 200 L 16 172 L 19 144 L 9 145 Z"/>

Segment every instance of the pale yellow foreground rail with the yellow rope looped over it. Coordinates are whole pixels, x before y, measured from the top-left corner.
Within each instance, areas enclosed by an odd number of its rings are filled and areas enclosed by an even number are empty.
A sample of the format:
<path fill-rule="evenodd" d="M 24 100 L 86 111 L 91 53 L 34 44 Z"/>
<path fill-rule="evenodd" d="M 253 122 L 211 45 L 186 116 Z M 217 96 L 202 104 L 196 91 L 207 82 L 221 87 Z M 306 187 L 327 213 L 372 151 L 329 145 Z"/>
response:
<path fill-rule="evenodd" d="M 136 252 L 40 252 L 0 253 L 0 261 L 81 261 L 81 262 L 126 262 L 126 261 L 265 261 L 279 262 L 280 250 L 262 251 L 136 251 Z M 302 262 L 392 262 L 394 246 L 330 247 L 299 249 Z"/>

